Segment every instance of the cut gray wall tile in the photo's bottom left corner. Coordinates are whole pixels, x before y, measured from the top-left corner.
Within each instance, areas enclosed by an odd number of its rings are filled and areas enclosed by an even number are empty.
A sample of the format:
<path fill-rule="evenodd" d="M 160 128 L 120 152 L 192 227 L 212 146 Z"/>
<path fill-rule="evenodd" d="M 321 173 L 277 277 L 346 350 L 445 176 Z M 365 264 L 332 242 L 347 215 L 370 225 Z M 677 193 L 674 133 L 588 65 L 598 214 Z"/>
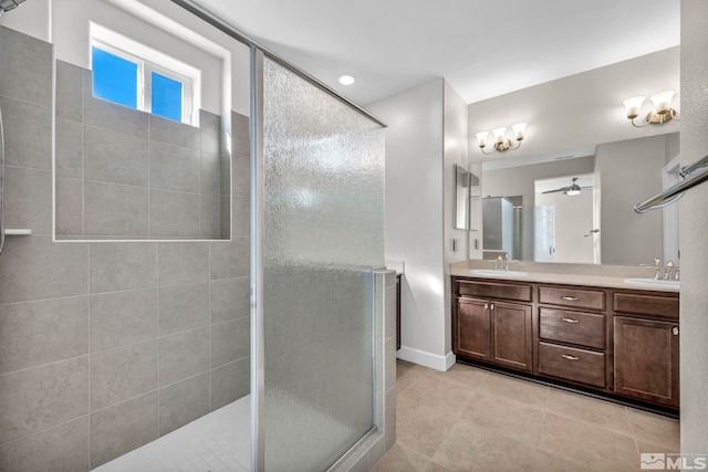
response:
<path fill-rule="evenodd" d="M 0 471 L 88 471 L 88 416 L 84 416 L 0 447 Z"/>

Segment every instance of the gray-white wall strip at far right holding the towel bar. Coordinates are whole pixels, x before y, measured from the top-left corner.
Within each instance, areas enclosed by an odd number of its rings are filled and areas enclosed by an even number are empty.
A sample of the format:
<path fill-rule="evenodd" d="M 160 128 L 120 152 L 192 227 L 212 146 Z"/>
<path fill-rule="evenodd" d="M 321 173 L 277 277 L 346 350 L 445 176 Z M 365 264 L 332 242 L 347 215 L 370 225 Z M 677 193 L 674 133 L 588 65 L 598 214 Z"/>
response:
<path fill-rule="evenodd" d="M 681 164 L 708 154 L 708 2 L 681 0 Z M 708 452 L 708 183 L 679 201 L 681 452 Z"/>

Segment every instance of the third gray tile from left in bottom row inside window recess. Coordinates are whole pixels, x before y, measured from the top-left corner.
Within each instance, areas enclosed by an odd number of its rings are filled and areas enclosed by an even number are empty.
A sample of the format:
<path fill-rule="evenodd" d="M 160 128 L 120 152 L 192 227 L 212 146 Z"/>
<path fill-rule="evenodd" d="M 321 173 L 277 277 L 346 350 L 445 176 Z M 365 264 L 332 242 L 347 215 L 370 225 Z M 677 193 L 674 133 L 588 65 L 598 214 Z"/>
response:
<path fill-rule="evenodd" d="M 199 238 L 199 195 L 150 190 L 150 235 Z"/>

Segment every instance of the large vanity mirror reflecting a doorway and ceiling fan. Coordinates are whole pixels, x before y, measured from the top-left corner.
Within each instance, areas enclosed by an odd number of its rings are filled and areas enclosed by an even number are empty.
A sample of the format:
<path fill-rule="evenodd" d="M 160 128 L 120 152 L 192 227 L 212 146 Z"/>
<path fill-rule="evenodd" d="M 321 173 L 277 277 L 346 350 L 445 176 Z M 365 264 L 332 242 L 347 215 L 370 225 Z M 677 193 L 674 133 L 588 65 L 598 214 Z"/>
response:
<path fill-rule="evenodd" d="M 500 251 L 535 262 L 636 265 L 671 259 L 665 240 L 677 239 L 678 230 L 675 219 L 663 216 L 670 209 L 639 216 L 633 204 L 671 181 L 665 174 L 676 174 L 669 162 L 678 143 L 671 133 L 601 144 L 580 158 L 531 165 L 518 159 L 516 166 L 509 160 L 485 169 L 485 259 Z"/>

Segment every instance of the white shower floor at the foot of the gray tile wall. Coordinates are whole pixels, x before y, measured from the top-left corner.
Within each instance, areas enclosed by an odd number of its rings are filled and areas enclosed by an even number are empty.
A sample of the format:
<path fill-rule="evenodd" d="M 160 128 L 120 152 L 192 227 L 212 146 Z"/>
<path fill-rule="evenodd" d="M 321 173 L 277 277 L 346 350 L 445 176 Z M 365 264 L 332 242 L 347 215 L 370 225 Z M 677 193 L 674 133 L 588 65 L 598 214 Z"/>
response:
<path fill-rule="evenodd" d="M 94 472 L 248 472 L 250 396 L 131 451 Z"/>

